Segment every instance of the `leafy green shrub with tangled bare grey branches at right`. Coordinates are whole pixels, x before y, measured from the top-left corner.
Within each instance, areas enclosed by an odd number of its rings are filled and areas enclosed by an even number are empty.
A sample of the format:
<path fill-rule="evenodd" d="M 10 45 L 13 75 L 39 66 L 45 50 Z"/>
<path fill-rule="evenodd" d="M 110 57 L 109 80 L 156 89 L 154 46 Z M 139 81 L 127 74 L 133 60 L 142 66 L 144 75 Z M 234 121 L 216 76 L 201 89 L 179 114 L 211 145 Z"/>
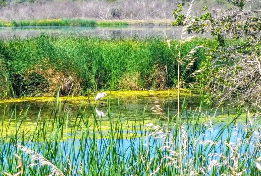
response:
<path fill-rule="evenodd" d="M 233 0 L 234 8 L 208 9 L 204 14 L 185 18 L 184 3 L 174 10 L 173 25 L 186 26 L 188 33 L 211 33 L 218 45 L 206 52 L 206 60 L 197 75 L 198 82 L 216 105 L 233 104 L 239 108 L 250 104 L 260 108 L 261 87 L 261 1 Z M 253 8 L 254 7 L 254 8 Z M 233 39 L 235 45 L 225 45 Z"/>

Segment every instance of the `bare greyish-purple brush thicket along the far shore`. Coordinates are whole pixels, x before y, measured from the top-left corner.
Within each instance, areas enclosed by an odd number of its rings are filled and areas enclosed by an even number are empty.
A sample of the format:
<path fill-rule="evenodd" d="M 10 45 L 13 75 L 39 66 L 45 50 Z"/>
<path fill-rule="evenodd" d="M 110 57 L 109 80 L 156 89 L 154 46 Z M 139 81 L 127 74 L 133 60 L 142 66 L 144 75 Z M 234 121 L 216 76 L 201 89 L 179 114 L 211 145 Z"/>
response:
<path fill-rule="evenodd" d="M 173 19 L 173 8 L 178 0 L 118 0 L 118 1 L 36 1 L 34 3 L 10 3 L 0 8 L 2 20 L 91 18 L 100 20 L 128 19 L 153 20 Z M 188 7 L 189 4 L 187 4 Z M 219 8 L 224 4 L 216 1 L 197 1 L 193 13 L 202 13 L 202 7 Z"/>

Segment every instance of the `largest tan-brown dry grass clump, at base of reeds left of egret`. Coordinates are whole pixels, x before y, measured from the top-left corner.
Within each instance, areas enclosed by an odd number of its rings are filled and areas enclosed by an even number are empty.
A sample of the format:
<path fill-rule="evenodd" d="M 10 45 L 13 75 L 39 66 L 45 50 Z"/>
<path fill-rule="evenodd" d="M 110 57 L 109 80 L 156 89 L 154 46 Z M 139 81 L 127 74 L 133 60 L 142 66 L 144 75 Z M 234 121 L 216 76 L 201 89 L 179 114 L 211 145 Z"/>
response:
<path fill-rule="evenodd" d="M 35 88 L 36 91 L 39 90 L 44 94 L 54 95 L 58 92 L 60 86 L 61 95 L 79 95 L 82 92 L 82 81 L 80 81 L 73 72 L 62 72 L 51 69 L 49 66 L 34 65 L 33 69 L 26 72 L 25 81 L 34 82 L 37 80 L 35 79 L 36 77 L 45 80 L 41 81 L 38 88 Z M 43 84 L 43 82 L 45 82 L 45 84 Z"/>

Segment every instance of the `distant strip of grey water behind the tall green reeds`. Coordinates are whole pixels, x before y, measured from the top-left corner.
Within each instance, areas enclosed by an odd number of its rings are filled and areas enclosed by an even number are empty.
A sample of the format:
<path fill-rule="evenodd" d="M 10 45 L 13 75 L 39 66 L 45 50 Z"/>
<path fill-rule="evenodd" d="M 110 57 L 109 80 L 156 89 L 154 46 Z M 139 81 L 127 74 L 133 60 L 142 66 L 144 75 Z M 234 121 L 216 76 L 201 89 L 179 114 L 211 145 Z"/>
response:
<path fill-rule="evenodd" d="M 0 38 L 14 36 L 27 38 L 39 33 L 93 35 L 104 38 L 180 38 L 180 27 L 173 26 L 123 26 L 123 27 L 0 27 Z M 207 35 L 204 35 L 207 36 Z"/>

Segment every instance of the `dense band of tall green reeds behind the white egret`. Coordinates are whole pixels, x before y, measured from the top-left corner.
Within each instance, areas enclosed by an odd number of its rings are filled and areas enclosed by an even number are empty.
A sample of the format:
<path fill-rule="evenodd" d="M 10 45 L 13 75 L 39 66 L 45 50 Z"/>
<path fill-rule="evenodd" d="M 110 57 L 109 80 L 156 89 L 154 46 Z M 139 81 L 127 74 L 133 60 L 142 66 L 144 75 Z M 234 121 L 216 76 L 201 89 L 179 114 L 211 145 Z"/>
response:
<path fill-rule="evenodd" d="M 173 51 L 178 43 L 178 40 L 171 41 Z M 181 55 L 201 44 L 215 42 L 194 39 L 181 48 Z M 169 89 L 177 82 L 177 53 L 173 55 L 164 39 L 117 40 L 40 34 L 1 41 L 0 56 L 4 64 L 0 78 L 8 87 L 0 93 L 1 98 L 12 97 L 13 92 L 16 97 L 52 95 L 61 84 L 63 95 L 69 92 L 83 95 L 102 89 Z M 205 57 L 204 49 L 199 48 L 195 56 L 198 59 L 186 75 L 199 68 Z"/>

